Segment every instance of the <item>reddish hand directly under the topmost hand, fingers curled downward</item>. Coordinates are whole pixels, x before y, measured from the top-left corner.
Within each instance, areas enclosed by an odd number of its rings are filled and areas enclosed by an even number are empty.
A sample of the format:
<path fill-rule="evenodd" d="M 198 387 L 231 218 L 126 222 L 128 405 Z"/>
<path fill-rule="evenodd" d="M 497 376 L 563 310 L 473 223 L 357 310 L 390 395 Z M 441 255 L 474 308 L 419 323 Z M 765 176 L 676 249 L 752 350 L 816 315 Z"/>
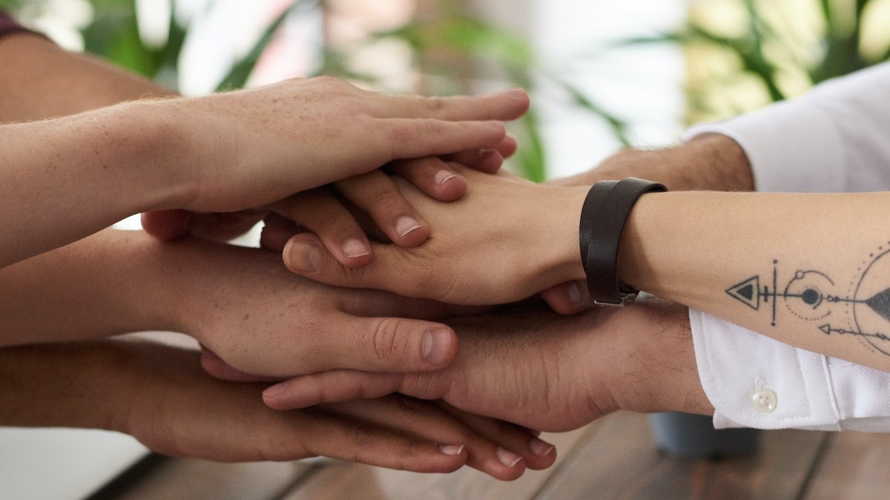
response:
<path fill-rule="evenodd" d="M 515 139 L 506 136 L 495 149 L 464 151 L 444 158 L 426 157 L 410 163 L 395 161 L 386 171 L 400 175 L 431 198 L 452 201 L 464 196 L 466 179 L 449 167 L 446 159 L 480 172 L 495 173 L 504 158 L 515 151 Z M 282 215 L 318 235 L 337 261 L 348 267 L 364 265 L 373 258 L 368 236 L 354 217 L 355 213 L 369 216 L 372 224 L 383 231 L 380 235 L 399 246 L 417 246 L 429 237 L 430 231 L 423 218 L 402 198 L 391 178 L 380 170 L 236 213 L 149 212 L 142 214 L 142 227 L 165 241 L 189 234 L 228 241 L 244 234 L 271 213 Z"/>

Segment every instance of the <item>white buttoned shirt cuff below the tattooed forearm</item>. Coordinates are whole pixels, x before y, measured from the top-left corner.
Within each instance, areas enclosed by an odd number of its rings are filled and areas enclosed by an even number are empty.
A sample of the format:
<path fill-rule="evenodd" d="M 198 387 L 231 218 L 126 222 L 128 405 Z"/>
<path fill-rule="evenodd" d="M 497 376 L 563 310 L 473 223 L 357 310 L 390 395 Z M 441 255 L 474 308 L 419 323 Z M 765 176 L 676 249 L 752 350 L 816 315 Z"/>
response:
<path fill-rule="evenodd" d="M 689 319 L 717 429 L 890 431 L 890 373 L 797 349 L 698 310 Z M 757 399 L 761 393 L 772 394 L 771 411 Z"/>

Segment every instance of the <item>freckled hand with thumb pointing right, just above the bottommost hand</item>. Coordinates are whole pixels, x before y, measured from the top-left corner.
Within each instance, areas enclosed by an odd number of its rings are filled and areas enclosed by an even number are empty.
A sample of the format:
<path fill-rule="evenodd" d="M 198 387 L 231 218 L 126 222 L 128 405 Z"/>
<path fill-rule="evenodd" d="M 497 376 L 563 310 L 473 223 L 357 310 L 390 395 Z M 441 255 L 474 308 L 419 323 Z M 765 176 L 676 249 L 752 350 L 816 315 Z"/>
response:
<path fill-rule="evenodd" d="M 436 319 L 467 308 L 343 290 L 295 277 L 276 254 L 197 239 L 155 245 L 146 265 L 170 298 L 169 327 L 239 370 L 303 375 L 333 368 L 414 372 L 447 366 L 454 331 Z"/>

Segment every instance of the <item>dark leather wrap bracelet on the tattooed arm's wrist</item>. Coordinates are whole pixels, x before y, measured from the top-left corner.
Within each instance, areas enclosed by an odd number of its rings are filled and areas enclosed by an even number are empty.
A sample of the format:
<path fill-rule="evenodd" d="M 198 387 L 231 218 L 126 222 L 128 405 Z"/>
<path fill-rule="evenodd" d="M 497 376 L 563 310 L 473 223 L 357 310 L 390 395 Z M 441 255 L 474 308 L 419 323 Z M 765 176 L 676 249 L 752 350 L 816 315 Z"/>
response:
<path fill-rule="evenodd" d="M 634 302 L 639 290 L 618 280 L 621 233 L 636 200 L 645 193 L 660 191 L 667 188 L 658 182 L 628 177 L 597 182 L 587 193 L 581 208 L 578 240 L 587 289 L 595 303 L 621 306 Z"/>

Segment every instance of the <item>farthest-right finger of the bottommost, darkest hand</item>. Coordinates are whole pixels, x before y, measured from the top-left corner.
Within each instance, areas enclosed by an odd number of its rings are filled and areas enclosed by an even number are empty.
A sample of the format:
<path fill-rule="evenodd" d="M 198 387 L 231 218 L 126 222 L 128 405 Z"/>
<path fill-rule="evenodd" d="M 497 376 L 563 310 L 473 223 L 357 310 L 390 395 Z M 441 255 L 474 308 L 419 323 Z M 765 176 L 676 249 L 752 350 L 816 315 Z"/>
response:
<path fill-rule="evenodd" d="M 556 447 L 541 440 L 528 429 L 487 416 L 474 415 L 453 407 L 445 401 L 436 404 L 483 438 L 498 443 L 496 456 L 500 464 L 510 466 L 522 461 L 532 470 L 540 471 L 554 464 Z M 471 455 L 472 456 L 472 455 Z"/>

